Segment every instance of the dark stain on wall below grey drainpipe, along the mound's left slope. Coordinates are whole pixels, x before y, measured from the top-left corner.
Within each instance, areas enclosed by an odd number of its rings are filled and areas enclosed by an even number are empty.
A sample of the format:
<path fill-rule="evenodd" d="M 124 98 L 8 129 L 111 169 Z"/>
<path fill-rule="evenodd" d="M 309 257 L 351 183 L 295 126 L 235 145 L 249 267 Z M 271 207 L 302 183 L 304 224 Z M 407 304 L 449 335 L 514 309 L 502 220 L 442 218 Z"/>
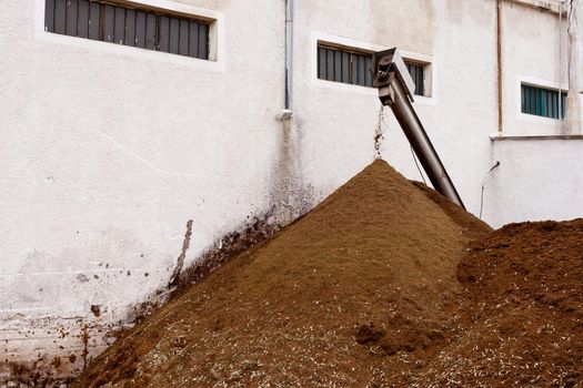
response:
<path fill-rule="evenodd" d="M 302 178 L 301 123 L 281 122 L 279 153 L 271 173 L 269 210 L 260 215 L 249 215 L 233 232 L 218 238 L 187 269 L 183 269 L 185 254 L 190 246 L 192 219 L 187 223 L 182 252 L 172 270 L 168 287 L 158 289 L 143 303 L 131 309 L 129 321 L 143 320 L 169 299 L 182 295 L 184 289 L 201 280 L 232 257 L 273 237 L 287 224 L 308 213 L 314 204 L 313 187 Z M 123 330 L 117 330 L 118 337 Z"/>

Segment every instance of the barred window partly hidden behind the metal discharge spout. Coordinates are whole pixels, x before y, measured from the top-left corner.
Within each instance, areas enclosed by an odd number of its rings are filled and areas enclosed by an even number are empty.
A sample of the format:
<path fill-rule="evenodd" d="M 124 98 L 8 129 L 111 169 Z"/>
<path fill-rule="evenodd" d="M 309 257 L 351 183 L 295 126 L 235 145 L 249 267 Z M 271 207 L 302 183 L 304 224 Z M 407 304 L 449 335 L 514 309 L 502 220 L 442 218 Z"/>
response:
<path fill-rule="evenodd" d="M 425 64 L 405 61 L 415 94 L 425 95 Z M 372 88 L 372 53 L 318 44 L 318 78 Z"/>

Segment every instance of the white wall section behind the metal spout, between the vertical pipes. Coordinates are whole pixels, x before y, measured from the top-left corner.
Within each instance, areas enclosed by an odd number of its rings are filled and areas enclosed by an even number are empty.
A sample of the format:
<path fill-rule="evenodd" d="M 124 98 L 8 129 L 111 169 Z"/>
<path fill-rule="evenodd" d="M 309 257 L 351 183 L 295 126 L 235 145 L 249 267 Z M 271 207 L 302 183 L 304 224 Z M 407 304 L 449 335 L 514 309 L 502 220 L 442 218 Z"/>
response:
<path fill-rule="evenodd" d="M 366 50 L 396 45 L 405 57 L 433 62 L 435 90 L 414 106 L 468 210 L 476 212 L 479 182 L 490 163 L 485 140 L 497 123 L 494 2 L 300 3 L 295 111 L 309 182 L 331 192 L 371 161 L 381 109 L 375 90 L 316 80 L 315 42 Z M 385 111 L 383 156 L 421 181 L 401 129 Z"/>

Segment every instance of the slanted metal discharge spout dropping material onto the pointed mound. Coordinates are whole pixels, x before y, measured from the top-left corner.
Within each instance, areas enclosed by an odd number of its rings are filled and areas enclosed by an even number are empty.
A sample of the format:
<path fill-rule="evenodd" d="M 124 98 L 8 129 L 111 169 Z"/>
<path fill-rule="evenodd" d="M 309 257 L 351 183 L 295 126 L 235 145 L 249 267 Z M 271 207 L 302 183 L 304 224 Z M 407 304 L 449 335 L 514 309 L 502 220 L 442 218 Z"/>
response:
<path fill-rule="evenodd" d="M 413 109 L 411 102 L 414 83 L 398 49 L 374 53 L 373 71 L 373 86 L 379 89 L 379 99 L 383 105 L 389 105 L 393 111 L 433 187 L 465 210 L 462 198 Z"/>

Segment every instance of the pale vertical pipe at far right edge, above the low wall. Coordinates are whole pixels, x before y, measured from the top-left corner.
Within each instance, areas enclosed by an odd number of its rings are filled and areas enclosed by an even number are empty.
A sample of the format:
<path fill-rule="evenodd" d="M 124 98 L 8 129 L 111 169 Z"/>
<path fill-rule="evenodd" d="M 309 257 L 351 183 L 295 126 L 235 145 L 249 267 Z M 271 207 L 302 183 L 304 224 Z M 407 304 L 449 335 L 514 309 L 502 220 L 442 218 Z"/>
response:
<path fill-rule="evenodd" d="M 569 91 L 565 101 L 565 132 L 581 134 L 581 96 L 583 65 L 581 62 L 580 23 L 583 0 L 567 0 L 567 50 L 569 50 Z"/>

